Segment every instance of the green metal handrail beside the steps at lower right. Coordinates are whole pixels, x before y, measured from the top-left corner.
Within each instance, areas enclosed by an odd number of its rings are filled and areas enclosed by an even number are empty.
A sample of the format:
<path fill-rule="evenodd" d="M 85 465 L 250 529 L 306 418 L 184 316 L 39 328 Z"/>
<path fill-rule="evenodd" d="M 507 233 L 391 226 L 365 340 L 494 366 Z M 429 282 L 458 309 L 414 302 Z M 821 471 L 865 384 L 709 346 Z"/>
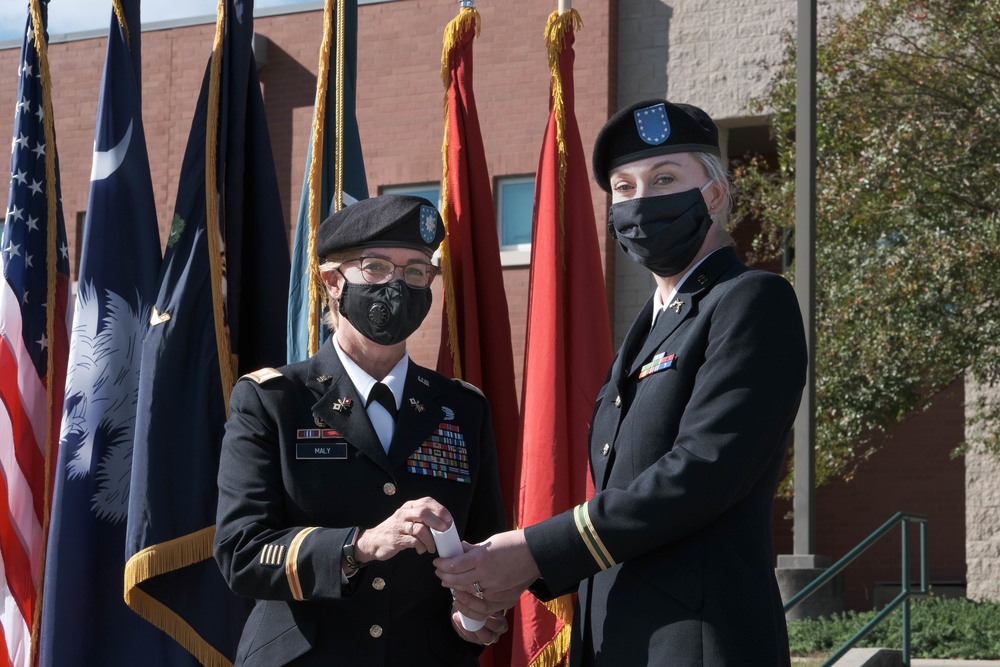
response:
<path fill-rule="evenodd" d="M 912 588 L 910 586 L 910 523 L 920 524 L 920 587 Z M 875 532 L 862 540 L 858 546 L 847 552 L 843 558 L 838 560 L 836 563 L 830 566 L 830 568 L 818 576 L 812 583 L 803 588 L 801 591 L 793 595 L 788 602 L 785 603 L 785 612 L 787 613 L 789 609 L 794 608 L 800 602 L 808 598 L 810 595 L 818 591 L 823 584 L 827 583 L 835 576 L 840 574 L 840 572 L 847 567 L 854 559 L 860 556 L 862 553 L 868 550 L 870 546 L 879 541 L 885 536 L 896 524 L 900 525 L 900 531 L 902 532 L 903 543 L 902 543 L 902 577 L 900 581 L 902 583 L 902 589 L 895 598 L 892 599 L 885 609 L 876 614 L 868 623 L 861 628 L 857 634 L 847 640 L 836 653 L 827 658 L 821 667 L 829 667 L 837 660 L 839 660 L 845 653 L 851 650 L 855 644 L 861 641 L 861 638 L 871 632 L 872 628 L 882 622 L 882 620 L 892 613 L 896 607 L 902 605 L 903 607 L 903 665 L 904 667 L 910 667 L 910 598 L 915 595 L 926 595 L 928 592 L 927 587 L 927 517 L 923 514 L 912 514 L 910 512 L 897 512 L 891 519 L 883 523 Z"/>

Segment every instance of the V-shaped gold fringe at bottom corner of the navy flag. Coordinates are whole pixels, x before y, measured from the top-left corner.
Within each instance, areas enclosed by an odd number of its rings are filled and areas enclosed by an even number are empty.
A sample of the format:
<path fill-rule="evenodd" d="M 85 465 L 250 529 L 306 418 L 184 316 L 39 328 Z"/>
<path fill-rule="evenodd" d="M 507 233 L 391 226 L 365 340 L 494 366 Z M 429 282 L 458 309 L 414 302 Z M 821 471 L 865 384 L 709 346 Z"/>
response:
<path fill-rule="evenodd" d="M 161 574 L 212 558 L 215 526 L 146 547 L 125 564 L 125 604 L 170 635 L 206 667 L 232 667 L 226 656 L 212 647 L 183 618 L 139 585 Z"/>

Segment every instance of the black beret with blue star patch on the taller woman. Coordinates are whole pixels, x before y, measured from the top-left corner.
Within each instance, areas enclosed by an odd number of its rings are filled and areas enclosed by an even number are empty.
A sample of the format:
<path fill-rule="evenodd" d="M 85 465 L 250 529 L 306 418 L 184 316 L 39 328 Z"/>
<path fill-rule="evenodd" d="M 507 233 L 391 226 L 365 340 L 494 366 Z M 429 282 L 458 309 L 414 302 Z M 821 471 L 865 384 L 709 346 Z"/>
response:
<path fill-rule="evenodd" d="M 719 151 L 719 128 L 690 104 L 653 99 L 636 102 L 612 116 L 594 142 L 594 180 L 611 192 L 611 171 L 628 162 L 667 153 Z"/>

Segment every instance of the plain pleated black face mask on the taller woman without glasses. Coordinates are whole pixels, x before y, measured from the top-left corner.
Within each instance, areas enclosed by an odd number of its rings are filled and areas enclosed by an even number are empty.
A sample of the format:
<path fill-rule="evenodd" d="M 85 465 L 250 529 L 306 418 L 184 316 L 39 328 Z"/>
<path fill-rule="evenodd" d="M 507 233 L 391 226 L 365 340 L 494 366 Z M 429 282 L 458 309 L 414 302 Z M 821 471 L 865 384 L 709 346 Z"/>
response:
<path fill-rule="evenodd" d="M 608 232 L 625 254 L 661 277 L 688 267 L 711 226 L 698 188 L 618 202 L 608 212 Z"/>

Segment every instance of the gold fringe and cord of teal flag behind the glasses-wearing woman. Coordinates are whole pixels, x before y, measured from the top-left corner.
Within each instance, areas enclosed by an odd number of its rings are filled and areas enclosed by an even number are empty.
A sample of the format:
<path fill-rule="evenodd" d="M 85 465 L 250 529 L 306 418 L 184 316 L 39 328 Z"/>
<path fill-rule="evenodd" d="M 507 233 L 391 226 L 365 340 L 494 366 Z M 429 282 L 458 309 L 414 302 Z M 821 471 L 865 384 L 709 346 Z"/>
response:
<path fill-rule="evenodd" d="M 320 43 L 319 47 L 319 67 L 317 68 L 316 74 L 316 102 L 313 110 L 313 126 L 312 126 L 312 159 L 309 162 L 309 242 L 306 245 L 306 261 L 308 264 L 308 269 L 306 270 L 306 280 L 309 281 L 306 293 L 309 299 L 309 343 L 307 347 L 307 352 L 309 356 L 316 354 L 319 349 L 319 309 L 320 304 L 323 303 L 323 297 L 326 294 L 326 290 L 323 286 L 323 281 L 320 279 L 319 275 L 319 258 L 316 257 L 316 230 L 319 229 L 319 211 L 322 202 L 320 201 L 323 196 L 323 139 L 326 134 L 326 93 L 327 93 L 327 81 L 330 76 L 330 48 L 331 42 L 333 40 L 333 7 L 334 0 L 326 0 L 326 4 L 323 7 L 323 41 Z M 337 31 L 338 31 L 338 47 L 337 47 L 337 57 L 340 58 L 341 46 L 343 42 L 342 27 L 341 23 L 343 20 L 344 12 L 337 12 Z M 341 83 L 340 69 L 338 65 L 337 70 L 337 114 L 338 117 L 342 113 L 340 109 L 340 97 L 343 84 Z M 337 123 L 337 136 L 341 137 L 340 131 L 340 121 Z M 342 141 L 342 139 L 341 139 Z M 340 162 L 340 146 L 338 142 L 337 147 L 337 169 L 339 171 Z M 336 197 L 336 205 L 334 210 L 340 210 L 343 206 L 343 193 L 341 192 L 340 183 L 337 183 L 335 188 L 336 192 L 334 196 Z"/>

